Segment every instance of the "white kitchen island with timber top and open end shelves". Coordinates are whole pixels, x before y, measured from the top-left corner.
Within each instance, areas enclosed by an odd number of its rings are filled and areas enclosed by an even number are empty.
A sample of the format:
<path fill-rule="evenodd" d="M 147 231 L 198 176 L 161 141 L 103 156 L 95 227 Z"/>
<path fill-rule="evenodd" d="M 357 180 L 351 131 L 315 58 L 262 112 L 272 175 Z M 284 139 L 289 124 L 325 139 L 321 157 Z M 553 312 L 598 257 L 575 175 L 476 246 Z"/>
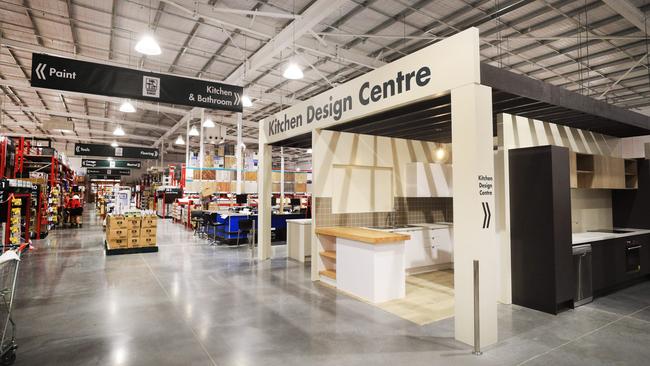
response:
<path fill-rule="evenodd" d="M 321 271 L 336 280 L 336 287 L 372 303 L 404 298 L 404 242 L 409 235 L 358 227 L 317 228 L 316 234 L 336 238 L 336 252 L 321 252 L 333 258 L 335 268 Z"/>

